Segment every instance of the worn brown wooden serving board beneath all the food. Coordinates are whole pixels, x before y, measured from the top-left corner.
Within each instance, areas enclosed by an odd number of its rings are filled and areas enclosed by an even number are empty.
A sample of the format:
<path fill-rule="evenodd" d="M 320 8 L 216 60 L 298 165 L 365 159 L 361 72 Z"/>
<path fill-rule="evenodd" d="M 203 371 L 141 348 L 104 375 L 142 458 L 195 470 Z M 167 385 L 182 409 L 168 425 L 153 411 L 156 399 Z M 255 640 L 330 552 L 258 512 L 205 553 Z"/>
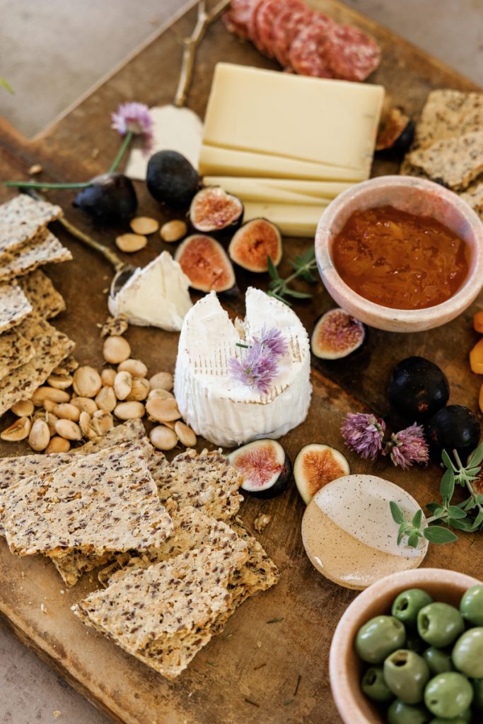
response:
<path fill-rule="evenodd" d="M 432 88 L 475 89 L 468 80 L 343 4 L 320 0 L 316 7 L 337 20 L 358 25 L 378 39 L 383 59 L 371 80 L 385 85 L 392 101 L 404 106 L 408 113 L 418 114 Z M 194 22 L 195 12 L 191 10 L 43 138 L 28 143 L 6 123 L 0 124 L 2 180 L 26 177 L 33 163 L 42 164 L 46 180 L 87 180 L 104 172 L 119 146 L 117 134 L 109 129 L 110 113 L 126 100 L 149 105 L 171 101 L 181 59 L 177 37 L 189 34 Z M 190 106 L 201 117 L 214 64 L 219 60 L 275 67 L 253 46 L 229 35 L 217 22 L 199 51 L 190 94 Z M 301 132 L 303 124 L 301 118 Z M 397 172 L 397 164 L 374 164 L 374 174 L 387 172 Z M 0 193 L 2 201 L 7 198 L 4 190 Z M 161 221 L 168 218 L 168 212 L 159 209 L 140 184 L 138 196 L 140 213 Z M 100 228 L 85 219 L 70 208 L 71 192 L 52 193 L 50 198 L 61 203 L 78 226 L 113 246 L 115 235 L 126 230 Z M 81 363 L 100 367 L 101 340 L 96 324 L 106 316 L 105 292 L 112 269 L 96 253 L 72 240 L 61 227 L 55 231 L 74 255 L 70 264 L 49 270 L 67 300 L 67 312 L 55 324 L 75 340 Z M 159 237 L 150 240 L 149 248 L 138 253 L 134 263 L 145 264 L 164 247 L 168 245 L 163 245 Z M 306 248 L 307 240 L 285 240 L 283 274 L 289 269 L 288 259 Z M 242 290 L 249 284 L 266 285 L 266 278 L 255 274 L 238 277 Z M 243 313 L 243 295 L 227 300 L 227 304 Z M 319 283 L 313 300 L 298 303 L 295 311 L 311 332 L 316 317 L 331 306 L 332 300 Z M 427 356 L 442 367 L 450 380 L 450 402 L 476 409 L 480 380 L 469 371 L 468 351 L 476 341 L 471 317 L 482 307 L 480 295 L 473 308 L 431 332 L 409 335 L 371 329 L 369 342 L 360 355 L 335 363 L 316 361 L 312 374 L 314 397 L 308 418 L 282 439 L 290 457 L 293 459 L 308 442 L 326 442 L 343 450 L 340 424 L 346 411 L 370 409 L 385 415 L 385 387 L 390 369 L 410 354 Z M 133 355 L 148 364 L 150 374 L 174 369 L 177 334 L 131 327 L 127 338 Z M 3 426 L 7 426 L 7 419 Z M 26 445 L 0 445 L 1 455 L 25 452 Z M 350 454 L 348 459 L 353 471 L 371 471 L 386 477 L 408 489 L 421 505 L 437 499 L 437 466 L 404 473 L 387 460 L 369 464 Z M 246 500 L 242 513 L 249 526 L 260 510 L 272 515 L 272 523 L 259 537 L 282 571 L 280 584 L 246 602 L 230 619 L 225 632 L 198 654 L 178 681 L 164 681 L 75 619 L 70 606 L 96 587 L 92 577 L 85 576 L 74 589 L 62 594 L 62 581 L 51 564 L 40 557 L 20 559 L 10 555 L 3 539 L 1 618 L 93 704 L 123 724 L 336 724 L 340 718 L 329 690 L 329 645 L 340 615 L 356 593 L 330 583 L 308 562 L 300 533 L 304 505 L 295 484 L 272 501 Z M 482 577 L 482 554 L 483 536 L 461 535 L 455 544 L 430 546 L 424 565 L 454 568 Z M 274 618 L 281 620 L 267 623 Z"/>

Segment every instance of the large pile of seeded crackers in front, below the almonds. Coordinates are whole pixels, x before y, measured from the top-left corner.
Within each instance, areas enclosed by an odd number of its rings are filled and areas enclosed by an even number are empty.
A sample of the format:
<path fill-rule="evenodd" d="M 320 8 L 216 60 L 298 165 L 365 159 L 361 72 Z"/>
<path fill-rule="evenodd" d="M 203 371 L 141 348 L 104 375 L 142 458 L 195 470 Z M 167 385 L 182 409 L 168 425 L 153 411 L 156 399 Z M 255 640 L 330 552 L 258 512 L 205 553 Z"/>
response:
<path fill-rule="evenodd" d="M 0 533 L 51 558 L 65 584 L 99 568 L 72 607 L 172 679 L 276 566 L 237 517 L 241 478 L 220 451 L 168 462 L 133 419 L 66 453 L 0 459 Z"/>

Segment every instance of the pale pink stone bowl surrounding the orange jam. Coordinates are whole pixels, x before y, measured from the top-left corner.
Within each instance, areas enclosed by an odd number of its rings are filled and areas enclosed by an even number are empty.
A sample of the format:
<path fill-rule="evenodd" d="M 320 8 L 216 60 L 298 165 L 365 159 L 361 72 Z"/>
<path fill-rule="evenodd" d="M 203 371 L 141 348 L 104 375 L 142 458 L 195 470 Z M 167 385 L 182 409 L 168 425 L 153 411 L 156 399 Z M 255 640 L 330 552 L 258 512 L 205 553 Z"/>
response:
<path fill-rule="evenodd" d="M 469 245 L 469 274 L 453 297 L 426 309 L 391 309 L 361 297 L 343 282 L 332 261 L 333 240 L 354 211 L 386 205 L 417 216 L 432 216 Z M 320 219 L 315 253 L 322 281 L 337 304 L 370 327 L 389 332 L 421 332 L 439 327 L 469 307 L 483 287 L 482 222 L 453 191 L 413 176 L 380 176 L 338 195 Z"/>

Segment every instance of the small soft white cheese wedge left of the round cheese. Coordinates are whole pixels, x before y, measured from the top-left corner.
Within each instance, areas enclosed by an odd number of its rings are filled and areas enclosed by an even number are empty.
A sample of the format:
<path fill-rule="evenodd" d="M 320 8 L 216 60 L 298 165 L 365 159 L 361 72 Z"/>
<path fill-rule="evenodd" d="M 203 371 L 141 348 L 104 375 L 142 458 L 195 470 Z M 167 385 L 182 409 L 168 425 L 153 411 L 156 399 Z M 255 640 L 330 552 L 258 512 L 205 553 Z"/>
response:
<path fill-rule="evenodd" d="M 171 254 L 163 251 L 143 269 L 136 269 L 116 298 L 109 297 L 113 316 L 125 314 L 129 324 L 179 332 L 192 308 L 190 280 Z"/>

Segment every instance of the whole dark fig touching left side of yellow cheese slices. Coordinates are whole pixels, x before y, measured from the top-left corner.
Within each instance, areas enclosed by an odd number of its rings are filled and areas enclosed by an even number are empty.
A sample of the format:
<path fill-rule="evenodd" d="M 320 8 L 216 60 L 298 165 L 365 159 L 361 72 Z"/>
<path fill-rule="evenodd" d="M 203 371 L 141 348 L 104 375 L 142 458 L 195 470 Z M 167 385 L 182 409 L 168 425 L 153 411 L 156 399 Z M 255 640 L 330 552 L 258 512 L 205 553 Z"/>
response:
<path fill-rule="evenodd" d="M 148 161 L 146 185 L 156 201 L 186 208 L 200 188 L 200 177 L 182 153 L 158 151 Z"/>

